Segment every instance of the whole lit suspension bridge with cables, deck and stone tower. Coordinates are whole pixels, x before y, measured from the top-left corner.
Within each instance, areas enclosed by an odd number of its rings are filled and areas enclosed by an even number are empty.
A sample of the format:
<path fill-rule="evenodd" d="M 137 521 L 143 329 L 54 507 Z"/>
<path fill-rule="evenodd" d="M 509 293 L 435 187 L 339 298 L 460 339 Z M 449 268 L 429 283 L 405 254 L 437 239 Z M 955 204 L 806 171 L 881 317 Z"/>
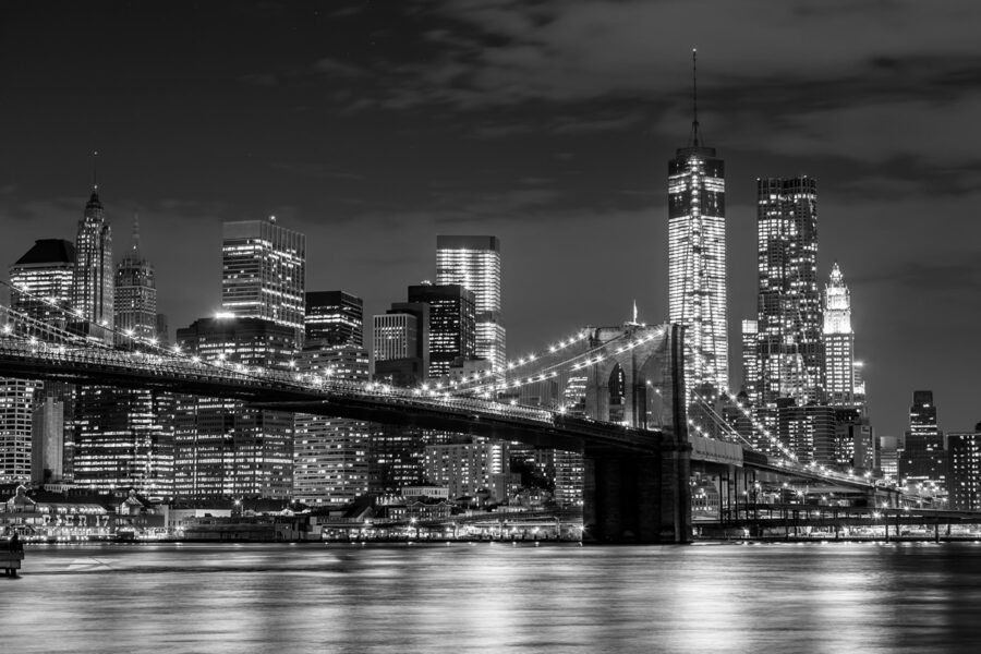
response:
<path fill-rule="evenodd" d="M 785 448 L 774 457 L 740 443 L 706 401 L 686 391 L 678 325 L 585 329 L 547 352 L 509 362 L 505 375 L 474 374 L 414 389 L 205 361 L 149 341 L 112 348 L 7 306 L 0 306 L 0 325 L 7 377 L 237 399 L 261 409 L 581 452 L 583 523 L 586 537 L 597 542 L 690 542 L 693 470 L 714 474 L 727 510 L 737 513 L 756 484 L 835 488 L 872 504 L 892 493 L 868 479 L 802 465 Z M 570 388 L 578 388 L 576 397 Z M 689 402 L 722 427 L 713 432 L 695 422 Z M 899 498 L 888 501 L 898 505 Z"/>

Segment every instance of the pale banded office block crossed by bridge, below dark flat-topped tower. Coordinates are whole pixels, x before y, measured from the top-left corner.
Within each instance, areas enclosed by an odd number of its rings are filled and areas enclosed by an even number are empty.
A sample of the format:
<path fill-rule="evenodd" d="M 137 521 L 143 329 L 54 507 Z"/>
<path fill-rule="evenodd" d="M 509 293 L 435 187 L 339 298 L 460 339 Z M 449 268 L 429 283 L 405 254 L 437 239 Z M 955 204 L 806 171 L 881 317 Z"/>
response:
<path fill-rule="evenodd" d="M 330 379 L 368 380 L 368 353 L 355 344 L 307 340 L 296 367 Z M 368 492 L 370 423 L 308 413 L 295 416 L 293 498 L 313 506 L 348 504 Z"/>

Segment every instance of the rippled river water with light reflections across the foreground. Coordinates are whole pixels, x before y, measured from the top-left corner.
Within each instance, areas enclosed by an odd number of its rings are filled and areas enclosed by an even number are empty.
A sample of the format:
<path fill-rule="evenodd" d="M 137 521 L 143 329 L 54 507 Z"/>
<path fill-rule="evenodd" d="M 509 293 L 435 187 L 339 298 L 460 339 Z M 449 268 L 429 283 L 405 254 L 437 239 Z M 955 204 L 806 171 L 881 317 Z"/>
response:
<path fill-rule="evenodd" d="M 0 651 L 965 652 L 981 545 L 35 547 Z"/>

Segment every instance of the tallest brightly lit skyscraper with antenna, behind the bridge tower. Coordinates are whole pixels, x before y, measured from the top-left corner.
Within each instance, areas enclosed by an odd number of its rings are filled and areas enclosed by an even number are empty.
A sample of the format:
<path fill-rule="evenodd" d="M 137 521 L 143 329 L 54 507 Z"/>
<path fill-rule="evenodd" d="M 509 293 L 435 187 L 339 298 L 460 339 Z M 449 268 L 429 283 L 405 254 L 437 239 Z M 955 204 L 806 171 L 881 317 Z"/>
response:
<path fill-rule="evenodd" d="M 725 165 L 701 143 L 695 101 L 689 145 L 668 162 L 668 305 L 686 327 L 690 388 L 729 385 L 725 197 Z"/>

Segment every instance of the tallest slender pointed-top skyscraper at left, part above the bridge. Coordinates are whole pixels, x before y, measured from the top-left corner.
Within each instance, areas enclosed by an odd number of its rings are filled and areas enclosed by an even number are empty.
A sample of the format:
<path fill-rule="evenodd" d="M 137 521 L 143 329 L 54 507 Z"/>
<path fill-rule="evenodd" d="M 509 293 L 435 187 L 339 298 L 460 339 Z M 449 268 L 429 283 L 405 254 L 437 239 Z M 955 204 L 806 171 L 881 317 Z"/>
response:
<path fill-rule="evenodd" d="M 71 304 L 77 327 L 106 340 L 110 339 L 113 324 L 112 268 L 112 229 L 96 186 L 78 221 Z"/>

